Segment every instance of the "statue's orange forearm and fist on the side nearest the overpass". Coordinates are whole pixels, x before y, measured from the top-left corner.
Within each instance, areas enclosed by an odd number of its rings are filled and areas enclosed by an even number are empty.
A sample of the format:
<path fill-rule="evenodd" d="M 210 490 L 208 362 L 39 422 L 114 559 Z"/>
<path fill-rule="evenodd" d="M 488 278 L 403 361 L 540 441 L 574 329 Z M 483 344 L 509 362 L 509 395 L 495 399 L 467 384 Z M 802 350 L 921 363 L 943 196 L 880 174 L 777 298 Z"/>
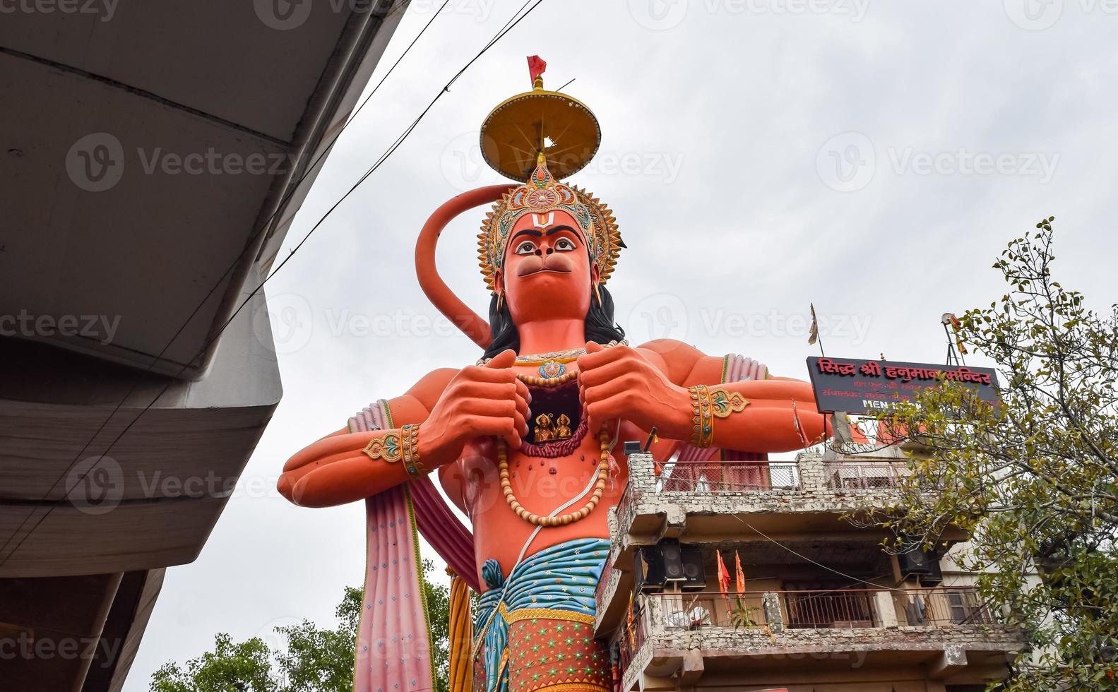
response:
<path fill-rule="evenodd" d="M 504 360 L 512 358 L 493 359 L 484 368 L 436 370 L 389 401 L 396 425 L 419 424 L 417 452 L 427 471 L 456 461 L 465 443 L 479 435 L 520 445 L 528 430 L 528 390 Z M 382 443 L 380 453 L 366 453 L 375 439 Z M 328 435 L 287 461 L 280 493 L 299 505 L 332 506 L 399 485 L 410 476 L 400 455 L 387 451 L 395 443 L 404 443 L 401 428 Z"/>

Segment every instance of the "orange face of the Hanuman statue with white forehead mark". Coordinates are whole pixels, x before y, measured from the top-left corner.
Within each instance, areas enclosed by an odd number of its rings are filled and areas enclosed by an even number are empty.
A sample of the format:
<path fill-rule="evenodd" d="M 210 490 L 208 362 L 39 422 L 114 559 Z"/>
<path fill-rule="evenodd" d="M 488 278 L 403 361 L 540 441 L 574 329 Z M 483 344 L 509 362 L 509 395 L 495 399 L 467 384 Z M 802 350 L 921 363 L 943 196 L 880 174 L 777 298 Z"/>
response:
<path fill-rule="evenodd" d="M 504 291 L 514 323 L 581 320 L 590 307 L 595 273 L 582 231 L 571 215 L 525 214 L 510 234 L 498 288 Z"/>

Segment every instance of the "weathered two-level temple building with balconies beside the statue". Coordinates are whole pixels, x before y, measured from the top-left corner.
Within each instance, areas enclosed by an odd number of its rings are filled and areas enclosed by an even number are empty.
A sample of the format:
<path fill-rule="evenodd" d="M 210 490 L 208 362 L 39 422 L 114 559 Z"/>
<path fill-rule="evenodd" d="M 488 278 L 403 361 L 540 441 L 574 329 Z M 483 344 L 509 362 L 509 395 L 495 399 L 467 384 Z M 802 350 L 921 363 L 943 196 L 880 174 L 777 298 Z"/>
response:
<path fill-rule="evenodd" d="M 896 502 L 899 449 L 628 463 L 596 617 L 625 692 L 978 692 L 1024 646 L 951 560 L 961 531 L 891 556 L 844 519 Z"/>

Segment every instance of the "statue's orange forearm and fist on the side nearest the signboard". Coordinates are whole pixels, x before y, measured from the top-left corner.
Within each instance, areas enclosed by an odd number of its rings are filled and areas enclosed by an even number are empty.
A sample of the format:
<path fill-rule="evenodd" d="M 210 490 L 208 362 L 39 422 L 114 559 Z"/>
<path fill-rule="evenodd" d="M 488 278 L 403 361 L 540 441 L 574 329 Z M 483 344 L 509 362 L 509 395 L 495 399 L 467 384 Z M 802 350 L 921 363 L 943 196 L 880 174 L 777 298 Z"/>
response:
<path fill-rule="evenodd" d="M 593 357 L 593 358 L 591 358 Z M 586 359 L 586 360 L 584 360 Z M 659 435 L 690 442 L 694 408 L 689 387 L 707 385 L 745 399 L 740 411 L 713 420 L 709 446 L 742 452 L 790 452 L 824 438 L 826 421 L 807 382 L 771 378 L 721 385 L 722 358 L 660 340 L 615 347 L 579 360 L 591 426 L 625 418 Z"/>

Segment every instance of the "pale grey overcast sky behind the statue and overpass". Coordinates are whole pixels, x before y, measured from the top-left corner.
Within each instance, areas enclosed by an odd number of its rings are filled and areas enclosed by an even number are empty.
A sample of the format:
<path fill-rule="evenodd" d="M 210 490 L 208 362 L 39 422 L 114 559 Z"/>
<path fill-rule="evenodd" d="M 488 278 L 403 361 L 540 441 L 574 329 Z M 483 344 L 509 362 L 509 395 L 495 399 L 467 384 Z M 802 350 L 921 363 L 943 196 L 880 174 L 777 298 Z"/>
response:
<path fill-rule="evenodd" d="M 520 4 L 451 0 L 342 135 L 287 247 Z M 435 7 L 413 2 L 373 84 Z M 275 478 L 370 401 L 479 357 L 423 296 L 413 249 L 438 205 L 502 181 L 477 129 L 529 88 L 525 56 L 548 61 L 550 87 L 574 78 L 567 93 L 601 123 L 597 158 L 572 180 L 613 207 L 628 245 L 609 287 L 631 340 L 676 338 L 806 379 L 809 302 L 827 354 L 941 362 L 940 314 L 997 298 L 995 256 L 1041 217 L 1057 217 L 1058 279 L 1114 302 L 1112 9 L 546 0 L 269 282 L 283 401 L 199 559 L 168 570 L 125 690 L 217 632 L 332 625 L 342 587 L 361 584 L 361 504 L 299 509 Z M 479 312 L 482 216 L 452 224 L 438 255 Z"/>

